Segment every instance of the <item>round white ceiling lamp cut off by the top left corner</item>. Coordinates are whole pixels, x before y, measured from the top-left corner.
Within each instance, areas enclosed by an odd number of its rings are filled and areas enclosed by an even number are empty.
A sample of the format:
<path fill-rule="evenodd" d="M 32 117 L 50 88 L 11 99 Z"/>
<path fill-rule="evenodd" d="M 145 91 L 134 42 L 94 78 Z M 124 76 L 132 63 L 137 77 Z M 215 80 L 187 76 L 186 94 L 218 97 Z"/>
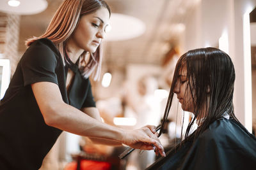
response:
<path fill-rule="evenodd" d="M 48 6 L 45 0 L 1 0 L 0 11 L 17 15 L 34 15 Z"/>

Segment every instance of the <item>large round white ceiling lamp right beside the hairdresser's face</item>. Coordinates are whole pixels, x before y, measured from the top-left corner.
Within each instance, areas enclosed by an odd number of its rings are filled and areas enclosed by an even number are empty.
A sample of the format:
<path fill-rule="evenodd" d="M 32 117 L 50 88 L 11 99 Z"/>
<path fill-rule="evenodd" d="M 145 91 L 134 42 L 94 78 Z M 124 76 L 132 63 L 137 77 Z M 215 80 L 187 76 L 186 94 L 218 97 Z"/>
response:
<path fill-rule="evenodd" d="M 141 36 L 146 30 L 145 24 L 138 18 L 120 13 L 111 13 L 111 30 L 106 34 L 106 41 L 124 41 Z"/>

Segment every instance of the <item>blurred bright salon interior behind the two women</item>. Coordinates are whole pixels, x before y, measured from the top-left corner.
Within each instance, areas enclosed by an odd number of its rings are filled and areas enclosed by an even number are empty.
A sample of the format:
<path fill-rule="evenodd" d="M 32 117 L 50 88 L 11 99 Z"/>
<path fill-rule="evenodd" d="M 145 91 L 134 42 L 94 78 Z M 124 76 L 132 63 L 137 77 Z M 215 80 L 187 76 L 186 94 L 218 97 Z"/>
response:
<path fill-rule="evenodd" d="M 26 51 L 24 41 L 44 33 L 61 2 L 20 0 L 17 6 L 17 1 L 0 1 L 1 98 Z M 106 2 L 112 11 L 112 29 L 102 43 L 100 80 L 92 81 L 104 122 L 125 129 L 160 124 L 177 59 L 188 50 L 213 46 L 227 52 L 234 62 L 235 113 L 248 131 L 253 131 L 256 0 Z M 178 101 L 174 102 L 161 136 L 166 150 L 182 136 L 182 121 L 186 126 L 191 117 L 180 109 Z M 118 159 L 124 150 L 125 146 L 93 145 L 87 138 L 63 132 L 41 169 L 145 169 L 156 159 L 154 152 L 137 150 Z"/>

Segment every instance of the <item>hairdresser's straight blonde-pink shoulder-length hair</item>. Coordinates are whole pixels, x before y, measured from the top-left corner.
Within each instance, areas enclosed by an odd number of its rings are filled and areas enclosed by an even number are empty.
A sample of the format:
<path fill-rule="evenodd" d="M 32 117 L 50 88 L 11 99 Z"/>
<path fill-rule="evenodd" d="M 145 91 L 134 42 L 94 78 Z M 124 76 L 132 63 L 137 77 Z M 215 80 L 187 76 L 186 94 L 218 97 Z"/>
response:
<path fill-rule="evenodd" d="M 31 45 L 36 39 L 48 38 L 56 45 L 58 50 L 60 50 L 65 61 L 70 62 L 70 59 L 66 54 L 66 43 L 68 38 L 70 38 L 76 29 L 77 24 L 83 15 L 93 13 L 100 8 L 108 9 L 110 16 L 111 11 L 104 0 L 65 0 L 52 17 L 45 33 L 42 36 L 28 39 L 26 45 Z M 81 70 L 81 74 L 84 78 L 88 78 L 92 74 L 93 80 L 99 80 L 102 61 L 100 46 L 95 53 L 90 53 L 90 58 L 87 64 L 85 64 L 86 53 L 87 52 L 83 52 L 79 57 L 78 66 Z"/>

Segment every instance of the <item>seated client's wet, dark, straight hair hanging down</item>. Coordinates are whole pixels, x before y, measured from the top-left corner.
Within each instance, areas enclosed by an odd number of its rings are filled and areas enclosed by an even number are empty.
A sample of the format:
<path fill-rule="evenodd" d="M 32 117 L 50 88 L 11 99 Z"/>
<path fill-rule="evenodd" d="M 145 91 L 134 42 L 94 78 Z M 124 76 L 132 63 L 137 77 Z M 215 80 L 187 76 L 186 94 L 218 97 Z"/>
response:
<path fill-rule="evenodd" d="M 164 113 L 164 120 L 166 120 L 172 106 L 173 90 L 176 83 L 179 83 L 177 79 L 184 67 L 187 69 L 187 88 L 191 92 L 195 114 L 195 117 L 191 119 L 186 129 L 184 142 L 188 139 L 196 139 L 212 122 L 223 117 L 226 113 L 230 118 L 239 122 L 234 115 L 233 106 L 236 76 L 234 65 L 227 53 L 210 47 L 190 50 L 184 53 L 178 60 L 173 74 L 172 87 Z M 186 92 L 189 92 L 189 90 L 186 90 Z M 207 96 L 210 97 L 209 103 L 207 103 Z M 196 118 L 202 117 L 202 114 L 205 117 L 204 121 L 201 122 L 202 124 L 200 124 L 193 135 L 189 136 Z M 161 131 L 163 130 L 161 129 Z M 161 134 L 161 131 L 159 134 Z"/>

